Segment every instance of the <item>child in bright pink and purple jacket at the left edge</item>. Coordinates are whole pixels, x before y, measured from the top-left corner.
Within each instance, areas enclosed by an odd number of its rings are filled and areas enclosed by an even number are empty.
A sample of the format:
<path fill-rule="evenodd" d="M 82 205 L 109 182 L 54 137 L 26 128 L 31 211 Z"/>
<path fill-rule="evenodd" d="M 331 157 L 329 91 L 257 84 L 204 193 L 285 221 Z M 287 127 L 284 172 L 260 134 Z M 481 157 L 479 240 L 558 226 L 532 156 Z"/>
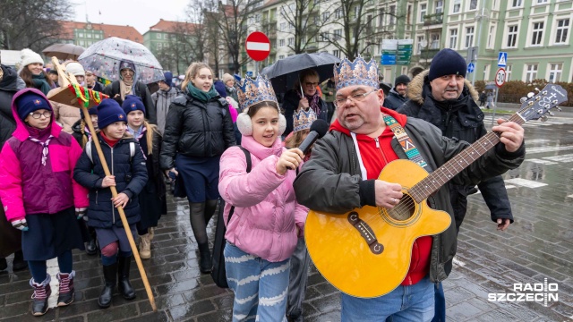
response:
<path fill-rule="evenodd" d="M 13 98 L 17 128 L 0 153 L 0 198 L 6 218 L 22 231 L 30 266 L 32 314 L 47 312 L 51 276 L 46 261 L 57 258 L 57 306 L 73 302 L 72 250 L 83 250 L 78 219 L 88 207 L 88 191 L 72 179 L 81 148 L 56 124 L 52 106 L 38 89 Z"/>

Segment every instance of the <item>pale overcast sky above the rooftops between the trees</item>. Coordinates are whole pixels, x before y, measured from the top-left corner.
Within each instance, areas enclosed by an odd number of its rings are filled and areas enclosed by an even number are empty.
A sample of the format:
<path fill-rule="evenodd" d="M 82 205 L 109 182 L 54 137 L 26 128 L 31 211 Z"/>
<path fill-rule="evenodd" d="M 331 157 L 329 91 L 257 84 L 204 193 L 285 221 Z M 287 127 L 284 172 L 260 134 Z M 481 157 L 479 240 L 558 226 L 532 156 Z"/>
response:
<path fill-rule="evenodd" d="M 158 23 L 184 20 L 189 0 L 72 0 L 74 21 L 85 22 L 86 12 L 90 22 L 130 25 L 141 35 Z M 101 14 L 99 14 L 101 13 Z"/>

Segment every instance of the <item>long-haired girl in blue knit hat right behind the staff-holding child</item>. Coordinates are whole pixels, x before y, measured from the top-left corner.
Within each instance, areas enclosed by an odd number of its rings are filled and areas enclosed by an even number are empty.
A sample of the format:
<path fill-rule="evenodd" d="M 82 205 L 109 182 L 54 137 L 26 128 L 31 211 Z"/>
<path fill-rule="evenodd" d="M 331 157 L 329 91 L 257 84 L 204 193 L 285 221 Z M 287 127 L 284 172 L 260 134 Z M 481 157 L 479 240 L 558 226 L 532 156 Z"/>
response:
<path fill-rule="evenodd" d="M 140 143 L 145 157 L 148 180 L 140 192 L 141 220 L 137 223 L 140 235 L 140 256 L 151 258 L 151 242 L 161 215 L 167 214 L 165 175 L 159 169 L 161 134 L 156 125 L 145 121 L 145 106 L 140 97 L 125 97 L 124 113 L 127 115 L 127 131 Z"/>

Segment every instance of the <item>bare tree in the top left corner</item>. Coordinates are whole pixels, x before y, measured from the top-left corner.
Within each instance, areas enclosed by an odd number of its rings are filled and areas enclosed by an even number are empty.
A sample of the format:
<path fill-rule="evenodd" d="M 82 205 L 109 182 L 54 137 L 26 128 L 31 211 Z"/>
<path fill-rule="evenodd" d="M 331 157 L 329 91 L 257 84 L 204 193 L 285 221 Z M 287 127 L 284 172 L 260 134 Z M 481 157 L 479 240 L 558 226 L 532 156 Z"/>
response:
<path fill-rule="evenodd" d="M 56 43 L 64 30 L 58 21 L 70 19 L 68 0 L 0 1 L 0 48 L 30 48 L 37 52 Z"/>

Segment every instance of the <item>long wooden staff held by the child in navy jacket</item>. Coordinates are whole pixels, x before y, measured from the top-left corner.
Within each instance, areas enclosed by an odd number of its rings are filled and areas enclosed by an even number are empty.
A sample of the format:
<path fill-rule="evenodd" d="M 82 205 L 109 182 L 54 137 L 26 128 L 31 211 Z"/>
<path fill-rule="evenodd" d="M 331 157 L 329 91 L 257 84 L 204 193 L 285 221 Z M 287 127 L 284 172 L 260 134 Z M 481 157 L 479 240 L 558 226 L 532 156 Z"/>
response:
<path fill-rule="evenodd" d="M 62 69 L 62 66 L 60 66 L 56 57 L 52 57 L 52 63 L 54 63 L 54 66 L 57 66 L 58 74 L 62 72 L 61 75 L 65 83 L 66 82 L 65 80 L 67 80 L 68 78 L 64 74 L 64 70 Z M 73 75 L 71 75 L 70 79 L 72 80 L 73 84 L 78 83 Z M 90 97 L 86 98 L 90 99 Z M 94 130 L 93 124 L 91 123 L 91 117 L 90 113 L 88 112 L 88 108 L 84 106 L 80 106 L 80 108 L 83 113 L 83 118 L 85 120 L 85 123 L 88 125 L 88 128 L 90 129 L 91 140 L 93 141 L 94 145 L 96 146 L 96 150 L 98 151 L 99 162 L 101 162 L 101 166 L 104 168 L 104 173 L 106 175 L 111 175 L 111 173 L 109 172 L 109 167 L 107 166 L 106 157 L 104 157 L 104 153 L 101 150 L 101 146 L 99 145 L 99 140 L 96 135 L 96 131 Z M 112 196 L 114 198 L 117 197 L 117 190 L 115 189 L 115 186 L 110 186 L 109 188 L 111 189 Z M 141 263 L 140 252 L 137 250 L 137 246 L 135 245 L 135 241 L 133 240 L 132 230 L 129 229 L 129 223 L 127 222 L 127 218 L 125 217 L 124 208 L 117 208 L 117 212 L 119 213 L 119 216 L 122 219 L 122 224 L 124 224 L 125 234 L 127 235 L 127 240 L 129 241 L 129 245 L 132 248 L 133 257 L 135 258 L 135 262 L 137 263 L 137 268 L 139 268 L 140 270 L 141 280 L 143 281 L 143 285 L 145 286 L 145 292 L 147 292 L 147 296 L 148 298 L 150 298 L 151 309 L 153 309 L 154 312 L 157 312 L 158 308 L 155 305 L 155 299 L 153 298 L 153 292 L 151 292 L 150 282 L 147 279 L 147 274 L 145 274 L 145 269 L 143 269 L 143 263 Z"/>

